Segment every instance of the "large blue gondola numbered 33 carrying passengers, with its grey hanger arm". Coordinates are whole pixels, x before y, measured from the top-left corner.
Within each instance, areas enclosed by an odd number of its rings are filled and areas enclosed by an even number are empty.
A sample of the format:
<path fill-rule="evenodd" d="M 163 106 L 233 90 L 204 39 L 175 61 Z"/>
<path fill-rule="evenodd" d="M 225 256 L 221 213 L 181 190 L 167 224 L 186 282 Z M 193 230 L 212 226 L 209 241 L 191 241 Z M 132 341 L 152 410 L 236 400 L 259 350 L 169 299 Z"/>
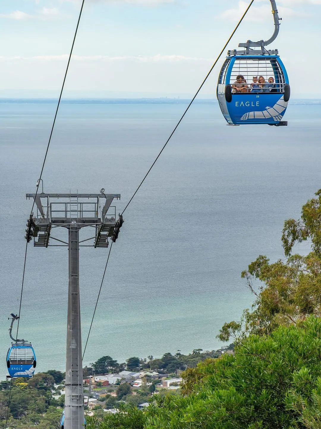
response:
<path fill-rule="evenodd" d="M 270 0 L 270 3 L 273 35 L 266 41 L 240 43 L 238 46 L 243 50 L 228 51 L 220 71 L 217 99 L 229 125 L 288 124 L 282 121 L 290 99 L 288 74 L 278 50 L 265 48 L 279 34 L 279 21 L 282 19 L 275 0 Z"/>

